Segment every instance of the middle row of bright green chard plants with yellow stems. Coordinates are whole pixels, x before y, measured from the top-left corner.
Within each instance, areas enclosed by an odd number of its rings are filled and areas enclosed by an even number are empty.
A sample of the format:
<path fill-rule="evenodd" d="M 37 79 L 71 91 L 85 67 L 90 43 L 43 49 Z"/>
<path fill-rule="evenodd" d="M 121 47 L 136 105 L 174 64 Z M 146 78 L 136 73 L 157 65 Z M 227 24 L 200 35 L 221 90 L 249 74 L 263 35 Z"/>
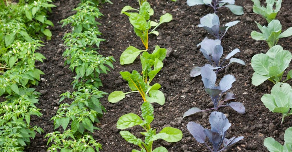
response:
<path fill-rule="evenodd" d="M 125 6 L 121 10 L 121 14 L 125 14 L 129 17 L 130 23 L 134 27 L 135 34 L 141 38 L 145 49 L 140 50 L 133 46 L 128 47 L 121 54 L 120 63 L 121 65 L 131 64 L 139 54 L 143 52 L 142 55 L 140 55 L 142 68 L 139 72 L 136 70 L 133 70 L 132 73 L 121 71 L 120 74 L 122 78 L 128 82 L 131 92 L 124 93 L 122 91 L 114 91 L 109 94 L 108 101 L 117 103 L 124 99 L 126 94 L 139 92 L 144 101 L 141 105 L 141 116 L 144 120 L 134 113 L 129 113 L 119 118 L 117 121 L 117 128 L 124 130 L 139 125 L 144 129 L 145 132 L 140 132 L 145 136 L 144 140 L 135 137 L 135 135 L 129 131 L 120 131 L 121 136 L 127 142 L 140 147 L 140 150 L 133 149 L 133 152 L 167 152 L 168 150 L 163 146 L 153 150 L 153 142 L 158 139 L 165 140 L 166 142 L 178 142 L 182 139 L 183 133 L 179 129 L 173 127 L 159 129 L 160 131 L 157 133 L 157 128 L 151 126 L 151 122 L 154 120 L 154 108 L 151 103 L 158 103 L 160 105 L 164 105 L 165 103 L 164 94 L 159 90 L 161 85 L 159 83 L 151 85 L 151 82 L 163 67 L 162 61 L 166 57 L 167 50 L 155 46 L 154 51 L 148 53 L 148 49 L 150 48 L 148 46 L 148 41 L 150 34 L 159 35 L 156 28 L 162 23 L 170 22 L 172 20 L 172 15 L 169 13 L 162 15 L 158 23 L 151 21 L 150 17 L 154 14 L 154 10 L 151 8 L 150 4 L 146 0 L 138 0 L 138 2 L 140 8 L 135 9 L 131 6 Z M 137 11 L 138 13 L 129 12 L 131 10 Z M 152 30 L 150 31 L 151 28 Z"/>

